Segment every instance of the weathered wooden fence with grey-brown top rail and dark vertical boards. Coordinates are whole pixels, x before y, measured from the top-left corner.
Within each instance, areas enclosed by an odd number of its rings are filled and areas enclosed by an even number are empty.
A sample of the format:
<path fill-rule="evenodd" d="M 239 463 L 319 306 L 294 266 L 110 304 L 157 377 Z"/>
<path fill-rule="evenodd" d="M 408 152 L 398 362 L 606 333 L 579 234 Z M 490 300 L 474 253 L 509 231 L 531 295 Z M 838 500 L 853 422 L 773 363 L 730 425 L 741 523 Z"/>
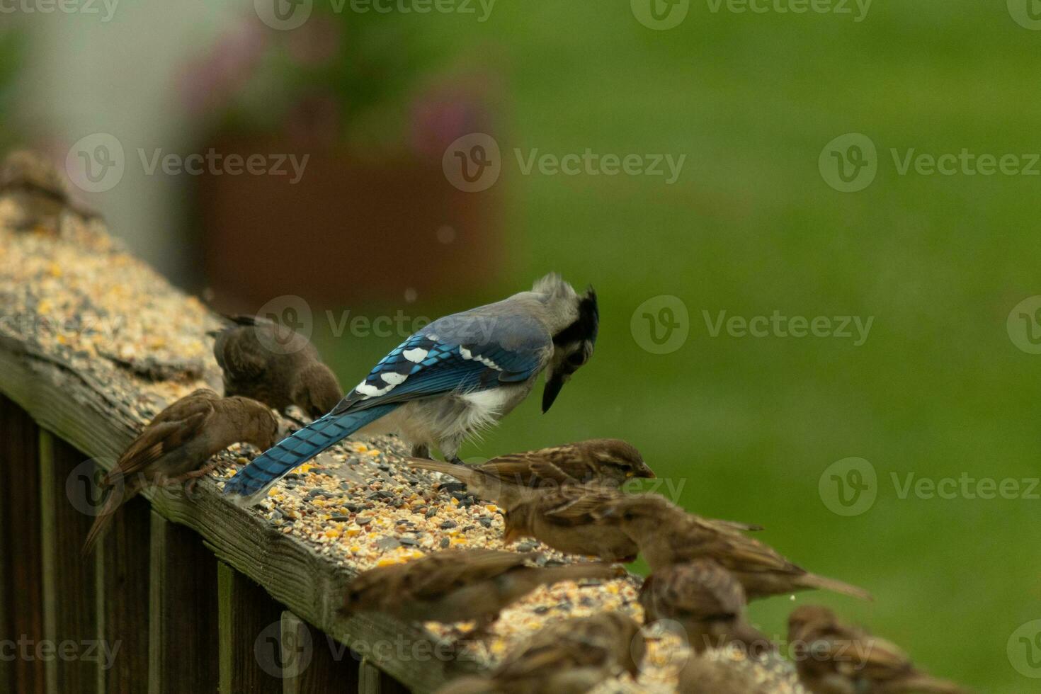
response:
<path fill-rule="evenodd" d="M 15 239 L 0 226 L 0 243 Z M 0 278 L 9 280 L 3 252 Z M 472 669 L 359 648 L 434 637 L 389 619 L 339 618 L 352 572 L 222 498 L 211 478 L 192 498 L 163 490 L 131 499 L 81 557 L 93 517 L 70 488 L 90 487 L 142 417 L 75 358 L 12 329 L 44 316 L 0 299 L 0 691 L 427 692 Z M 130 391 L 148 384 L 113 378 Z"/>

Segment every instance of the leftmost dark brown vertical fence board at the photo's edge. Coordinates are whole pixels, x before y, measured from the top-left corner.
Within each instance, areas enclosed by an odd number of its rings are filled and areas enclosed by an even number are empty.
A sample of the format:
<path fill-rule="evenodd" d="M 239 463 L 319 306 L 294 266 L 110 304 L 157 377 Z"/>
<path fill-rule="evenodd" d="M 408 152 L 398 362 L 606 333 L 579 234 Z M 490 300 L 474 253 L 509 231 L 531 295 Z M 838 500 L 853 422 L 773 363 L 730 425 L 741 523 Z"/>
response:
<path fill-rule="evenodd" d="M 0 636 L 18 648 L 14 660 L 0 661 L 0 690 L 20 694 L 43 694 L 46 682 L 34 657 L 44 639 L 39 447 L 36 423 L 0 395 Z"/>

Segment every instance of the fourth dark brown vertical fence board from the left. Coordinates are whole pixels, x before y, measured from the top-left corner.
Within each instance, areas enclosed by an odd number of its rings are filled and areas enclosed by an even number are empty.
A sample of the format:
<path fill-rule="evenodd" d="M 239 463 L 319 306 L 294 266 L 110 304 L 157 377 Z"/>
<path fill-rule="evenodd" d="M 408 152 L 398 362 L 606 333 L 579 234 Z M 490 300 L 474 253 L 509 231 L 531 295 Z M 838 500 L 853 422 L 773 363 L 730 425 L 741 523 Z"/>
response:
<path fill-rule="evenodd" d="M 217 562 L 195 533 L 151 518 L 148 692 L 217 692 Z"/>

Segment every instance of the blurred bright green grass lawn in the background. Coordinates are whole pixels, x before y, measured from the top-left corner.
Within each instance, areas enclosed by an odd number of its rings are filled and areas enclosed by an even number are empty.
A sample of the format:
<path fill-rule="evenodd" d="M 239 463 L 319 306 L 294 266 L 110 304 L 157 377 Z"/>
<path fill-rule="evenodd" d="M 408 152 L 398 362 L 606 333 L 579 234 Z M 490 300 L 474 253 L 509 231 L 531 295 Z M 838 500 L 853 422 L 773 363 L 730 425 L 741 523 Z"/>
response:
<path fill-rule="evenodd" d="M 1038 474 L 1041 359 L 1006 317 L 1039 292 L 1038 178 L 897 175 L 890 148 L 940 154 L 1041 150 L 1041 32 L 1004 2 L 874 3 L 834 15 L 712 14 L 691 3 L 669 31 L 628 3 L 505 3 L 490 19 L 413 17 L 456 55 L 509 84 L 497 190 L 507 200 L 509 267 L 482 295 L 433 303 L 436 316 L 530 286 L 544 272 L 592 283 L 601 334 L 591 363 L 547 415 L 532 397 L 464 452 L 491 457 L 598 436 L 638 445 L 682 481 L 700 513 L 765 524 L 763 538 L 812 570 L 862 585 L 870 605 L 823 593 L 903 644 L 932 672 L 989 692 L 1025 692 L 1007 642 L 1041 617 L 1041 503 L 898 498 L 890 473 L 939 480 Z M 833 190 L 817 157 L 863 132 L 879 175 Z M 680 180 L 522 176 L 512 150 L 562 155 L 686 154 Z M 460 268 L 465 272 L 465 268 Z M 690 313 L 678 352 L 630 331 L 644 300 Z M 710 337 L 702 311 L 874 316 L 862 346 L 839 338 Z M 379 307 L 370 307 L 374 314 Z M 398 340 L 325 339 L 345 385 Z M 845 518 L 818 479 L 859 456 L 878 502 Z M 783 634 L 793 602 L 753 605 Z"/>

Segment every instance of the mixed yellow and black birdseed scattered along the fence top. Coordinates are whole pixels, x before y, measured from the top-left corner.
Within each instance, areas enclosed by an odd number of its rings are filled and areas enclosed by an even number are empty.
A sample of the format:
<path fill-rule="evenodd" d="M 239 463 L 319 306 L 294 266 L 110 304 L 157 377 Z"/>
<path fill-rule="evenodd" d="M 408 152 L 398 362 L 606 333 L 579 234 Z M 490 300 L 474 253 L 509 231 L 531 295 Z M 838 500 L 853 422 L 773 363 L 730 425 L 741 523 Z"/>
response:
<path fill-rule="evenodd" d="M 16 231 L 17 219 L 11 201 L 0 197 L 0 339 L 72 369 L 141 425 L 196 388 L 221 390 L 212 339 L 206 336 L 220 323 L 201 302 L 128 255 L 98 221 L 67 214 L 54 234 Z M 211 479 L 223 487 L 255 453 L 232 446 L 221 454 L 223 464 Z M 286 475 L 252 511 L 259 522 L 355 571 L 448 547 L 503 546 L 499 508 L 439 491 L 437 485 L 450 480 L 408 469 L 406 455 L 392 437 L 345 441 Z M 534 541 L 515 548 L 542 552 L 544 564 L 584 560 Z M 480 639 L 468 638 L 472 623 L 426 626 L 458 642 L 461 657 L 491 666 L 553 620 L 603 610 L 641 620 L 638 588 L 636 576 L 540 588 L 505 610 Z M 627 675 L 598 691 L 675 691 L 678 664 L 689 657 L 679 639 L 653 638 L 638 683 Z M 755 669 L 762 680 L 777 682 L 776 691 L 802 691 L 791 683 L 790 667 L 738 664 Z"/>

